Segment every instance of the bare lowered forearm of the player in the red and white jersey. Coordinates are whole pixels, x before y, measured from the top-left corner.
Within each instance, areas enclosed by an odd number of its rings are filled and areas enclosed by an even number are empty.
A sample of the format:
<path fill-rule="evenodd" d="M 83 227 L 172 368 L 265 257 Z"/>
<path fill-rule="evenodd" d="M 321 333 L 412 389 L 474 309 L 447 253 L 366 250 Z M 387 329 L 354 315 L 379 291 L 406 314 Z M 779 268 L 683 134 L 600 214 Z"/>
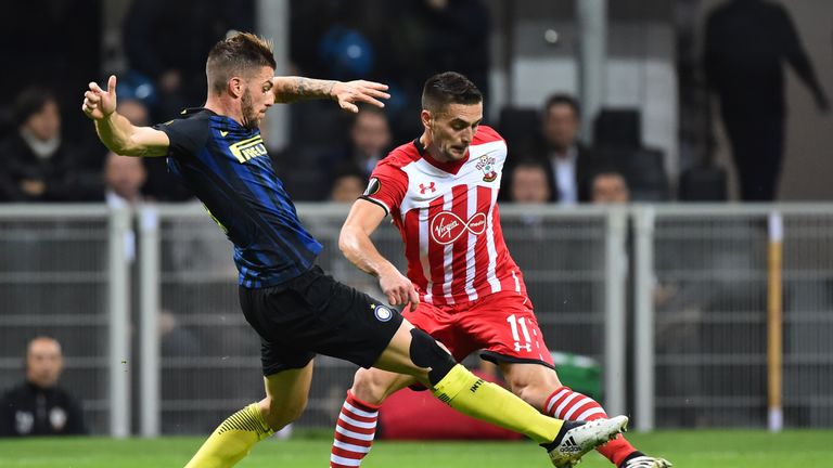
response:
<path fill-rule="evenodd" d="M 414 310 L 420 303 L 420 296 L 413 284 L 382 257 L 370 239 L 385 214 L 384 208 L 374 203 L 361 198 L 356 200 L 342 226 L 338 248 L 359 270 L 379 278 L 379 286 L 392 306 L 410 304 L 411 310 Z"/>

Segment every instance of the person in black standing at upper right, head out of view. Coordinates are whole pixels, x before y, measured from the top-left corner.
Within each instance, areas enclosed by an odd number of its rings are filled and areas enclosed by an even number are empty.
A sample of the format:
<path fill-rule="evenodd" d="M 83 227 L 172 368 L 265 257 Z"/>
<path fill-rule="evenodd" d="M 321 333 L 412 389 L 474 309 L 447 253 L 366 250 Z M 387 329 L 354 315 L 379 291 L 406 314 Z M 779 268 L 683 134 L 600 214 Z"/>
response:
<path fill-rule="evenodd" d="M 761 0 L 731 0 L 706 21 L 704 66 L 720 99 L 723 127 L 743 200 L 777 196 L 784 152 L 783 62 L 812 92 L 820 110 L 830 107 L 782 5 Z"/>

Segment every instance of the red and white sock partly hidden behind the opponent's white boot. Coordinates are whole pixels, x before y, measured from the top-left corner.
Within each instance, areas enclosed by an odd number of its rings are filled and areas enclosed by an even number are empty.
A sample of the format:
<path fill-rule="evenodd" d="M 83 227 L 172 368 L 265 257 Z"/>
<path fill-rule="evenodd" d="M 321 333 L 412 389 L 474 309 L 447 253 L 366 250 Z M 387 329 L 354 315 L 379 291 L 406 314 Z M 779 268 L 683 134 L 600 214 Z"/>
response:
<path fill-rule="evenodd" d="M 567 387 L 556 389 L 543 402 L 543 414 L 565 420 L 593 420 L 606 418 L 607 414 L 595 400 L 574 392 Z M 633 445 L 621 434 L 595 448 L 614 465 L 619 466 L 628 455 L 636 452 Z"/>

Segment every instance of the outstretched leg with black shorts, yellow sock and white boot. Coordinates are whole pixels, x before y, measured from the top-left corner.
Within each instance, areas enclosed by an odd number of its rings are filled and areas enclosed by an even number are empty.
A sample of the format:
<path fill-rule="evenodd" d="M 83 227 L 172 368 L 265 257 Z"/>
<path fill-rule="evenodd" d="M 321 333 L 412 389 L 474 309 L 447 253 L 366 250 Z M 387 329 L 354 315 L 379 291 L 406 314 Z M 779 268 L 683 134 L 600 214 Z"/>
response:
<path fill-rule="evenodd" d="M 290 323 L 269 327 L 286 339 L 297 341 L 299 336 L 309 336 L 304 342 L 311 343 L 308 346 L 321 354 L 345 359 L 362 367 L 373 366 L 414 376 L 432 389 L 435 396 L 457 411 L 548 445 L 551 457 L 553 447 L 562 446 L 564 433 L 573 427 L 541 415 L 503 388 L 478 379 L 457 365 L 431 336 L 413 328 L 398 312 L 323 275 L 320 269 L 295 282 L 290 289 L 292 294 L 283 299 L 283 308 L 286 309 L 291 299 L 302 301 L 311 312 L 304 323 L 313 323 L 310 326 Z M 274 324 L 281 320 L 281 314 L 274 315 L 264 320 Z M 586 439 L 587 443 L 563 457 L 563 463 L 553 458 L 554 463 L 571 466 L 585 452 L 621 431 L 626 422 L 627 418 L 621 416 L 587 425 L 595 439 Z"/>

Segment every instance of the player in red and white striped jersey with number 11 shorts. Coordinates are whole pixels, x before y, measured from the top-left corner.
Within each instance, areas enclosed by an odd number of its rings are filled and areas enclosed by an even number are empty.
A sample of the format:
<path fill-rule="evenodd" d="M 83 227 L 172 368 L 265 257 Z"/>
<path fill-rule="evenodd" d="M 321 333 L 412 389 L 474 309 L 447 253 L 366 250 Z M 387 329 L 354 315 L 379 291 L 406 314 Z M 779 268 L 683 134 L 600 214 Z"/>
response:
<path fill-rule="evenodd" d="M 464 76 L 444 73 L 426 81 L 422 107 L 423 134 L 379 162 L 344 223 L 339 248 L 379 277 L 388 301 L 408 306 L 405 317 L 457 361 L 480 349 L 500 366 L 512 391 L 542 413 L 605 418 L 598 402 L 559 381 L 523 274 L 503 240 L 497 199 L 507 144 L 480 125 L 482 94 Z M 388 214 L 405 243 L 407 277 L 370 239 Z M 331 467 L 360 466 L 381 403 L 411 384 L 406 376 L 359 369 L 338 418 Z M 670 466 L 620 435 L 597 450 L 617 467 Z"/>

